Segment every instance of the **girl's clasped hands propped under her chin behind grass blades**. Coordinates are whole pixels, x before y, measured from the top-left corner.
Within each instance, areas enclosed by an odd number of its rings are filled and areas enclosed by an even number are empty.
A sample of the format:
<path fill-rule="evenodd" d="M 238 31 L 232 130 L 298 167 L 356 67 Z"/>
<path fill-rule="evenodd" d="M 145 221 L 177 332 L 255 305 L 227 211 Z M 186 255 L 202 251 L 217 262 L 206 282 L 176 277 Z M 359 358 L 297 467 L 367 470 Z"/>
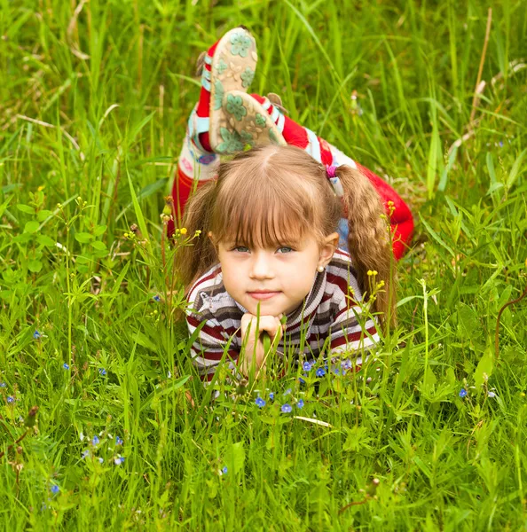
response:
<path fill-rule="evenodd" d="M 286 325 L 280 323 L 280 319 L 283 314 L 278 317 L 275 316 L 260 316 L 260 322 L 258 324 L 258 337 L 256 338 L 256 316 L 253 314 L 244 314 L 241 317 L 241 364 L 240 371 L 245 375 L 248 375 L 251 367 L 256 369 L 256 375 L 258 371 L 265 367 L 265 350 L 264 342 L 261 335 L 263 332 L 267 332 L 276 343 L 282 338 L 282 334 L 286 329 Z"/>

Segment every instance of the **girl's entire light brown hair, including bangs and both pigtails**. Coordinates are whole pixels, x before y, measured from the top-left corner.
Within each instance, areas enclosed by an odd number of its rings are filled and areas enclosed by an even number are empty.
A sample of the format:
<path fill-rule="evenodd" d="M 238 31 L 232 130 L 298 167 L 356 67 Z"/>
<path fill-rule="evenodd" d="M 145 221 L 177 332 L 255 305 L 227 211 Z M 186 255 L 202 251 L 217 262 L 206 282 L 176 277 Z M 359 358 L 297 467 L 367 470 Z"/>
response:
<path fill-rule="evenodd" d="M 295 146 L 267 145 L 222 161 L 217 180 L 203 184 L 185 206 L 183 225 L 193 234 L 193 246 L 181 248 L 177 274 L 188 290 L 218 262 L 216 244 L 233 241 L 271 247 L 300 241 L 309 232 L 319 244 L 337 230 L 342 207 L 348 214 L 348 247 L 363 294 L 384 282 L 374 311 L 395 323 L 395 293 L 389 229 L 378 193 L 366 176 L 349 166 L 336 168 L 342 182 L 342 201 L 326 178 L 326 167 Z M 284 238 L 284 233 L 287 237 Z"/>

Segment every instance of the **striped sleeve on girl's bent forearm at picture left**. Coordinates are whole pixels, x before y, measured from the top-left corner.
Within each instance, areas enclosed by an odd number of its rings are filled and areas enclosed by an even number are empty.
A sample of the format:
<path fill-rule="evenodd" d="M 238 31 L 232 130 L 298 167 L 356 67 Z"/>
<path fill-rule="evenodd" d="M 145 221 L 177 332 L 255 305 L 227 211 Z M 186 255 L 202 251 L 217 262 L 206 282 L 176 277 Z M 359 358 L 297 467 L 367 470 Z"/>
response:
<path fill-rule="evenodd" d="M 229 364 L 231 370 L 234 369 L 234 364 L 240 356 L 236 337 L 229 335 L 216 317 L 209 312 L 200 315 L 192 309 L 187 309 L 186 324 L 191 337 L 195 336 L 191 356 L 202 380 L 210 381 L 214 377 L 224 353 L 225 364 Z"/>

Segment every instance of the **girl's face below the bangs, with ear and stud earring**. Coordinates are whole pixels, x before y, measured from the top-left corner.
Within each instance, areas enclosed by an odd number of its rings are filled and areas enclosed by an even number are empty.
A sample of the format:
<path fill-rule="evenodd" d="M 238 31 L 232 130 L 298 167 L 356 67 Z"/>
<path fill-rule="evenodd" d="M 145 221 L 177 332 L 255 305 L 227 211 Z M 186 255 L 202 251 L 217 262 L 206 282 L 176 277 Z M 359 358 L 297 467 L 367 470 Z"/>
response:
<path fill-rule="evenodd" d="M 277 248 L 235 246 L 220 242 L 217 246 L 224 286 L 232 298 L 256 315 L 279 316 L 297 309 L 310 293 L 319 266 L 326 267 L 338 245 L 334 232 L 322 246 L 306 237 L 298 246 Z"/>

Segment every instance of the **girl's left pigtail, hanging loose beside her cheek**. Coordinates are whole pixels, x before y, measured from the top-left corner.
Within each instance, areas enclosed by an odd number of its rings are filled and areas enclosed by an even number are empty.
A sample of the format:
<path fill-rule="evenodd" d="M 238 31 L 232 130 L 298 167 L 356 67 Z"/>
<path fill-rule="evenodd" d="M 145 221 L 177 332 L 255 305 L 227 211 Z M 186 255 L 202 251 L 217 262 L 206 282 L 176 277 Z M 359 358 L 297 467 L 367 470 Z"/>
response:
<path fill-rule="evenodd" d="M 177 250 L 175 269 L 177 277 L 185 286 L 185 293 L 215 262 L 216 249 L 208 238 L 210 215 L 216 197 L 216 180 L 202 184 L 189 198 L 185 206 L 183 227 L 190 235 L 196 231 L 201 234 L 195 237 L 187 246 Z"/>

